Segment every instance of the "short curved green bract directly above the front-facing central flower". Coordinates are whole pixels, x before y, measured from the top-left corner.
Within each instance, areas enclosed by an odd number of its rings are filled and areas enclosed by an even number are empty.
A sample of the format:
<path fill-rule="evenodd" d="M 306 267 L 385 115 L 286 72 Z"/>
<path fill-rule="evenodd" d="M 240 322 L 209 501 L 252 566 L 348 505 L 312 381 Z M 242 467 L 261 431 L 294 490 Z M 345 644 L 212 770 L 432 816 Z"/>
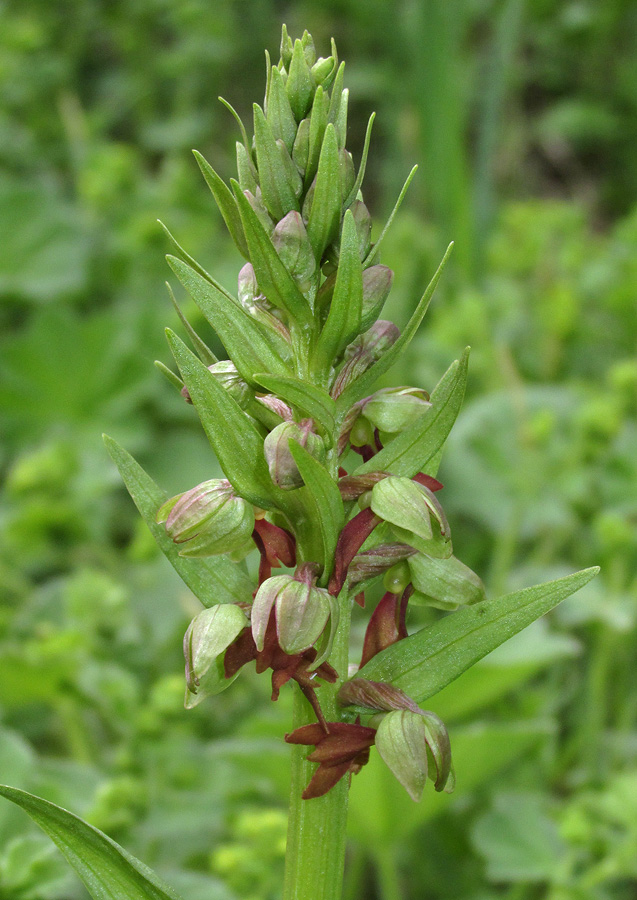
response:
<path fill-rule="evenodd" d="M 312 505 L 313 520 L 323 539 L 325 568 L 321 577 L 327 584 L 334 559 L 336 542 L 345 524 L 343 500 L 338 485 L 329 472 L 296 441 L 289 442 L 290 453 L 307 487 L 307 502 Z"/>

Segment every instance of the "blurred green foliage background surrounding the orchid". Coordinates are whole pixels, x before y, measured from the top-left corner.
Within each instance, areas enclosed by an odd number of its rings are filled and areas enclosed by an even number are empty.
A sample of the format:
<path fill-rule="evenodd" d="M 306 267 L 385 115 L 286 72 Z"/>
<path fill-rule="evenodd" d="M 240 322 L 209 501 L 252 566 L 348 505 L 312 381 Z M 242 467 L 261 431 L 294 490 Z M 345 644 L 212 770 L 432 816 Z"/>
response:
<path fill-rule="evenodd" d="M 248 674 L 185 712 L 197 604 L 101 433 L 173 493 L 218 472 L 152 364 L 180 327 L 156 218 L 234 287 L 190 150 L 232 174 L 216 98 L 250 120 L 283 21 L 319 54 L 335 37 L 356 160 L 378 112 L 378 223 L 420 164 L 383 254 L 388 318 L 456 240 L 391 383 L 431 388 L 473 346 L 441 469 L 458 554 L 491 596 L 602 566 L 432 700 L 453 796 L 417 806 L 377 761 L 354 779 L 347 900 L 634 900 L 634 0 L 0 3 L 0 781 L 87 816 L 187 900 L 279 896 L 290 692 L 270 704 Z M 2 900 L 84 896 L 0 806 Z"/>

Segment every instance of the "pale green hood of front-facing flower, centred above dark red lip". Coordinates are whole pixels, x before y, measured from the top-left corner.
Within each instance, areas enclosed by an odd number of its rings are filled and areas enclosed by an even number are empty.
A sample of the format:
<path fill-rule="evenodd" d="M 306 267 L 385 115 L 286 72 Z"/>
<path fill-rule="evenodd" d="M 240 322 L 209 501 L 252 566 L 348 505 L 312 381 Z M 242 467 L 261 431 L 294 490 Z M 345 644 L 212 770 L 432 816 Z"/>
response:
<path fill-rule="evenodd" d="M 297 581 L 293 575 L 274 575 L 263 582 L 252 604 L 252 636 L 258 650 L 274 608 L 281 649 L 291 655 L 312 647 L 330 618 L 329 594 L 323 588 Z"/>

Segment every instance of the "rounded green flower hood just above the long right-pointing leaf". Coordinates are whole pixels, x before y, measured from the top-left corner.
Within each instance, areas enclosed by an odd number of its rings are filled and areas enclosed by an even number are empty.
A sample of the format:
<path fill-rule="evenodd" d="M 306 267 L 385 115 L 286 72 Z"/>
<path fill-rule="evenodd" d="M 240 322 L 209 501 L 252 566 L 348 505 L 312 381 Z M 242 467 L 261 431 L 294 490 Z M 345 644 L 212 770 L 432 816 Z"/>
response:
<path fill-rule="evenodd" d="M 436 559 L 418 553 L 409 559 L 409 571 L 415 588 L 410 603 L 416 606 L 457 609 L 485 599 L 480 578 L 455 556 Z"/>

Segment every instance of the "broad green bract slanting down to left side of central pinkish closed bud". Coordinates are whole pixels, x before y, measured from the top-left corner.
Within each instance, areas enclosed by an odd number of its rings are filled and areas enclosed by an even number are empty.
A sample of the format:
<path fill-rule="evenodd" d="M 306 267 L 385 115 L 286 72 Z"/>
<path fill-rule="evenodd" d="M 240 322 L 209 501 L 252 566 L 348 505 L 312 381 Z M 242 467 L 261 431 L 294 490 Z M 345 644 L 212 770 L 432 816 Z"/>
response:
<path fill-rule="evenodd" d="M 168 343 L 226 478 L 245 500 L 270 509 L 273 485 L 263 439 L 239 404 L 169 328 Z"/>

